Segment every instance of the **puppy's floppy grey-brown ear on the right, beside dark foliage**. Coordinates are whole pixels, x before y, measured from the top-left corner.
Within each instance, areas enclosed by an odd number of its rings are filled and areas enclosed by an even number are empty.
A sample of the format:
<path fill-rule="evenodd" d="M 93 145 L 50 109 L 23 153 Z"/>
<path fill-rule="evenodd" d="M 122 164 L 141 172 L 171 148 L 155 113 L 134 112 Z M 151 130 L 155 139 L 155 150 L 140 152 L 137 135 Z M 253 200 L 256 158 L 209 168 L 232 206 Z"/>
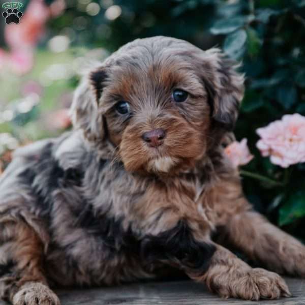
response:
<path fill-rule="evenodd" d="M 236 72 L 235 62 L 219 49 L 204 52 L 204 84 L 208 91 L 212 117 L 226 130 L 233 130 L 244 92 L 244 76 Z"/>

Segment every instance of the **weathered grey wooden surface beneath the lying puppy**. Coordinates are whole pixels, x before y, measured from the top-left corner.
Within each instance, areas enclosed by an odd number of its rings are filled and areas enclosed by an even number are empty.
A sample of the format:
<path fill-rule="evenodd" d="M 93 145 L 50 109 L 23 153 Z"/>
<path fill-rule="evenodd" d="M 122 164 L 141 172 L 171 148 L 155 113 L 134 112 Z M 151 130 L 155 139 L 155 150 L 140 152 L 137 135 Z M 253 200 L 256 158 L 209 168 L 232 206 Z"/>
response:
<path fill-rule="evenodd" d="M 57 290 L 62 305 L 232 305 L 270 304 L 305 305 L 305 280 L 287 278 L 293 294 L 278 300 L 245 301 L 221 299 L 207 291 L 202 284 L 192 281 L 130 284 L 120 287 Z M 6 303 L 0 302 L 0 305 Z"/>

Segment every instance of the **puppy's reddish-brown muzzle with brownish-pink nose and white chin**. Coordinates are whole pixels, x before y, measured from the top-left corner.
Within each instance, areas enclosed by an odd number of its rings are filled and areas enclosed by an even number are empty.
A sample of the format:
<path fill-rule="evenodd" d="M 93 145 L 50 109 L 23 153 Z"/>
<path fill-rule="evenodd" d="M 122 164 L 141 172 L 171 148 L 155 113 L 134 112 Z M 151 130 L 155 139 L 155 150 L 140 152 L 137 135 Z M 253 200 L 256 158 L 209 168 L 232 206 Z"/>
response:
<path fill-rule="evenodd" d="M 175 123 L 175 122 L 174 122 Z M 176 174 L 194 166 L 204 151 L 200 135 L 185 126 L 127 130 L 119 145 L 125 169 L 145 174 Z"/>

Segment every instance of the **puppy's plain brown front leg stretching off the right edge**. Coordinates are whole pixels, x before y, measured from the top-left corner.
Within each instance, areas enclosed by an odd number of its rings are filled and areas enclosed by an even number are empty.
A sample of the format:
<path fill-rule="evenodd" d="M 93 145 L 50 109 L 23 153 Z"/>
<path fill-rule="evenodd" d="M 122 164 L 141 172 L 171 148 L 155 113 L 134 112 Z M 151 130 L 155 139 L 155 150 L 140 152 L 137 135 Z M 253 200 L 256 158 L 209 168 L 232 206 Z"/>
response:
<path fill-rule="evenodd" d="M 233 216 L 225 230 L 234 246 L 270 270 L 305 277 L 305 247 L 257 212 Z"/>

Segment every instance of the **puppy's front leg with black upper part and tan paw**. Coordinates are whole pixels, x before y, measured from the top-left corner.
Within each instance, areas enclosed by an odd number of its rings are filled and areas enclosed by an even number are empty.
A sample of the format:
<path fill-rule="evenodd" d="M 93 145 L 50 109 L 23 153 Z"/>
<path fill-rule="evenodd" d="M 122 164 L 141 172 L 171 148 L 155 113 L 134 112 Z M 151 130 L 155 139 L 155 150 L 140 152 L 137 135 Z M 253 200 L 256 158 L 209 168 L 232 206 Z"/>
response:
<path fill-rule="evenodd" d="M 147 235 L 141 252 L 145 261 L 159 261 L 184 270 L 195 281 L 205 282 L 223 297 L 249 300 L 289 296 L 277 273 L 251 268 L 227 249 L 213 243 L 206 227 L 192 220 L 158 235 Z"/>

